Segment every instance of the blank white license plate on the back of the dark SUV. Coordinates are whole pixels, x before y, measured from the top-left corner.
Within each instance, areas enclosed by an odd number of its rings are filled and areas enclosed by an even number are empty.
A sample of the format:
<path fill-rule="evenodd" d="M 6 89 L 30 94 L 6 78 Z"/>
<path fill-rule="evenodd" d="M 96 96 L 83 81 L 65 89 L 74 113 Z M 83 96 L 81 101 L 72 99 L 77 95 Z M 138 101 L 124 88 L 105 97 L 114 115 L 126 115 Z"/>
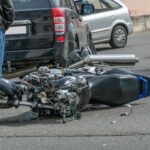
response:
<path fill-rule="evenodd" d="M 24 35 L 27 34 L 27 26 L 12 26 L 6 31 L 6 35 Z"/>

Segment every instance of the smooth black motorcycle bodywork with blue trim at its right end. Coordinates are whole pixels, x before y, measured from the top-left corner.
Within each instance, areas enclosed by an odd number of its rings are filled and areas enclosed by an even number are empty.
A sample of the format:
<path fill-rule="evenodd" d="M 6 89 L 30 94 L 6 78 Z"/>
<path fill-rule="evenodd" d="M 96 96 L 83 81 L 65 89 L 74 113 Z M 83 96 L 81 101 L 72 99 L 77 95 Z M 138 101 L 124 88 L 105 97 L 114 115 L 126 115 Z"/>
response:
<path fill-rule="evenodd" d="M 150 95 L 150 78 L 122 69 L 112 69 L 88 80 L 91 102 L 123 105 Z"/>

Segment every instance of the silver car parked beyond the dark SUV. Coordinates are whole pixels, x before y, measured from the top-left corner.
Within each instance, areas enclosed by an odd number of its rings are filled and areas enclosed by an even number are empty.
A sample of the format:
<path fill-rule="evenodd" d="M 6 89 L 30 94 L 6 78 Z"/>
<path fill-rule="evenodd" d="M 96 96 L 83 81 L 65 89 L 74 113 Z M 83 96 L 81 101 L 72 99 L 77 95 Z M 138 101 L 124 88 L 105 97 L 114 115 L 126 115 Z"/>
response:
<path fill-rule="evenodd" d="M 129 9 L 121 0 L 74 0 L 78 13 L 88 23 L 94 44 L 126 45 L 133 32 Z"/>

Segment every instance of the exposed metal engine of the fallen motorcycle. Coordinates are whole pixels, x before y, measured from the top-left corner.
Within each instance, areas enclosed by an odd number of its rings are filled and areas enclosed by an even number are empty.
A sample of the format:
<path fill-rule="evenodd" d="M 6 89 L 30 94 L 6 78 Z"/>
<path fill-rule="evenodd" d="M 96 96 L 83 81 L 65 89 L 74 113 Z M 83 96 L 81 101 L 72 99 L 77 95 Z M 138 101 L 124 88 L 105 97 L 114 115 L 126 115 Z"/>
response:
<path fill-rule="evenodd" d="M 34 87 L 28 92 L 29 101 L 54 106 L 63 118 L 77 116 L 89 103 L 90 89 L 83 77 L 65 76 L 60 69 L 41 67 L 37 72 L 25 76 L 24 80 Z M 37 111 L 50 114 L 48 110 L 34 109 L 34 112 Z"/>

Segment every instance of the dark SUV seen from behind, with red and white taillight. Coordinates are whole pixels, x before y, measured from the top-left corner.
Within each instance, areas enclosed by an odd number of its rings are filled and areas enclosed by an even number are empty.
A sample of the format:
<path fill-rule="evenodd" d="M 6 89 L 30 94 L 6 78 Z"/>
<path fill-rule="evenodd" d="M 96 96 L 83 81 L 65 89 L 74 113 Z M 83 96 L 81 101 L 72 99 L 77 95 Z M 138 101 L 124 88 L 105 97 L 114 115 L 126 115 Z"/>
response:
<path fill-rule="evenodd" d="M 89 31 L 72 0 L 13 0 L 16 17 L 6 32 L 5 62 L 56 61 L 89 46 Z"/>

